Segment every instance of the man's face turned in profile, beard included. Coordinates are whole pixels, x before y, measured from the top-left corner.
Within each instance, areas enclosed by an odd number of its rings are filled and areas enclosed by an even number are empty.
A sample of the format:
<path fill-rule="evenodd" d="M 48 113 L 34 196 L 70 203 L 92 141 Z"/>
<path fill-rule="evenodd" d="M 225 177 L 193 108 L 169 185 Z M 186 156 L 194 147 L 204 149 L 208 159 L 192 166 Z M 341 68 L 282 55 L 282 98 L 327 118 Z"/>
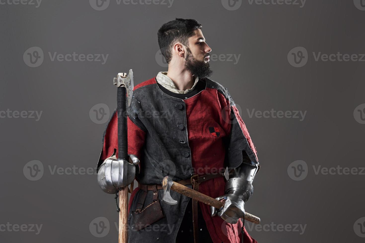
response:
<path fill-rule="evenodd" d="M 184 67 L 198 78 L 210 77 L 213 71 L 209 65 L 209 52 L 212 49 L 205 43 L 200 29 L 195 30 L 195 35 L 188 39 L 188 43 Z"/>

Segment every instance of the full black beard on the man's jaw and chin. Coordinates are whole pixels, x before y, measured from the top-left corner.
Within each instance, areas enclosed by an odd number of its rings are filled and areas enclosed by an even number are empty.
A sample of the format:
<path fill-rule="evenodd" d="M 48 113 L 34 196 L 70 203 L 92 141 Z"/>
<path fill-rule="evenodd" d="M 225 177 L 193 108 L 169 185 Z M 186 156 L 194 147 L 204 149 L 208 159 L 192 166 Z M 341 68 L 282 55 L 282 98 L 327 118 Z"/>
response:
<path fill-rule="evenodd" d="M 184 67 L 192 75 L 198 77 L 199 79 L 210 77 L 213 73 L 213 70 L 210 68 L 209 62 L 204 62 L 204 60 L 196 60 L 191 52 L 189 53 L 189 51 L 187 52 Z"/>

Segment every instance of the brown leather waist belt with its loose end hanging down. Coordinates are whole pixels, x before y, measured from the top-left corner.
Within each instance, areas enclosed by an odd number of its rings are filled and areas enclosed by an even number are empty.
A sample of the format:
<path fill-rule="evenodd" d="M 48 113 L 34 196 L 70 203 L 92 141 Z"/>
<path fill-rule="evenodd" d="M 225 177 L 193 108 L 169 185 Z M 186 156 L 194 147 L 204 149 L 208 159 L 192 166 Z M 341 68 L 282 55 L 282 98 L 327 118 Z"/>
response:
<path fill-rule="evenodd" d="M 193 190 L 199 191 L 199 184 L 208 181 L 214 178 L 218 178 L 223 176 L 223 174 L 210 174 L 210 175 L 193 175 L 190 177 L 190 179 L 187 180 L 181 180 L 176 181 L 177 183 L 181 185 L 192 185 Z M 147 184 L 141 184 L 138 182 L 138 187 L 142 189 L 143 191 L 154 191 L 161 190 L 162 185 L 161 184 L 155 184 L 155 185 L 147 185 Z M 194 229 L 194 242 L 198 243 L 198 201 L 192 199 L 192 213 L 193 213 L 193 229 Z"/>

